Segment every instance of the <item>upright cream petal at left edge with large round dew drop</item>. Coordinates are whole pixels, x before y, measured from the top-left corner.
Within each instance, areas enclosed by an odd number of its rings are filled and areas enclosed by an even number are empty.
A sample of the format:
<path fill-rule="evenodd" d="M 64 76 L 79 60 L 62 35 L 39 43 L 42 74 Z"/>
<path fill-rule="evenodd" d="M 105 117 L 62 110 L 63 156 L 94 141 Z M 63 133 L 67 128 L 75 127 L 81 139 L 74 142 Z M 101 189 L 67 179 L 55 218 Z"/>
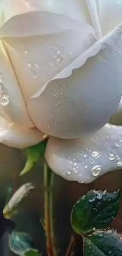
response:
<path fill-rule="evenodd" d="M 0 115 L 18 125 L 34 127 L 2 41 L 0 41 Z"/>

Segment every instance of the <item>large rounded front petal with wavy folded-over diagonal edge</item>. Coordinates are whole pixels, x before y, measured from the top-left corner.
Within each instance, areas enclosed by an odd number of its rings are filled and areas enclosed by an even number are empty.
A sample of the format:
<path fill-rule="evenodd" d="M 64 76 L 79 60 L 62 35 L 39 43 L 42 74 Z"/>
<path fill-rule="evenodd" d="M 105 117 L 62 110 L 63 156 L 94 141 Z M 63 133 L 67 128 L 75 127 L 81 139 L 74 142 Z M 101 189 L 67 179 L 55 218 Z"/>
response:
<path fill-rule="evenodd" d="M 117 110 L 122 95 L 120 52 L 121 31 L 116 30 L 41 88 L 28 101 L 35 126 L 64 139 L 104 126 Z M 77 69 L 71 74 L 73 67 Z"/>

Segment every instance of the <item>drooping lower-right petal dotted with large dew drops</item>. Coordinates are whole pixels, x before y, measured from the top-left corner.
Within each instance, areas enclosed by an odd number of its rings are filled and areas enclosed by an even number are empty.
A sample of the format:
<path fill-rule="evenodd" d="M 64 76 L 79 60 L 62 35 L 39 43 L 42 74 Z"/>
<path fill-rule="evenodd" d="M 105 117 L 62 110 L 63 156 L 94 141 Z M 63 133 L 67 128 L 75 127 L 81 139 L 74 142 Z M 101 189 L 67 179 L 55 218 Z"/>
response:
<path fill-rule="evenodd" d="M 80 139 L 50 138 L 45 159 L 61 177 L 90 183 L 107 172 L 122 168 L 122 126 L 106 124 Z"/>

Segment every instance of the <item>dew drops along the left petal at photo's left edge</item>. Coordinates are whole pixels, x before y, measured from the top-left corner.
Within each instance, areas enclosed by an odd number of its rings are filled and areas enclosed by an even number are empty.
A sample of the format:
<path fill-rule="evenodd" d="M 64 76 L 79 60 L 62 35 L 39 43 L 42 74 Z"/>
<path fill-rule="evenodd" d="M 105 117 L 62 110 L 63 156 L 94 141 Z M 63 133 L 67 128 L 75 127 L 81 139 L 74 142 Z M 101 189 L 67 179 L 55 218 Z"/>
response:
<path fill-rule="evenodd" d="M 9 102 L 10 102 L 10 98 L 7 94 L 4 93 L 4 91 L 2 90 L 2 85 L 4 83 L 4 76 L 2 74 L 2 72 L 0 72 L 0 104 L 2 106 L 8 106 Z"/>

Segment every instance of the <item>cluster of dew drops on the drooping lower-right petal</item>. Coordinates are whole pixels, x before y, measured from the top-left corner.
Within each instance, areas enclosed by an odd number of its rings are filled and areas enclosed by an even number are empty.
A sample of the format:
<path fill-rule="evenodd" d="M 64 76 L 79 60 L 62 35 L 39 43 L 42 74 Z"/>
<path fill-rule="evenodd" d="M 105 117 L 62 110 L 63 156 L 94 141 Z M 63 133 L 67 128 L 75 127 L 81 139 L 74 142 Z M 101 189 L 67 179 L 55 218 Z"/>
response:
<path fill-rule="evenodd" d="M 122 140 L 120 141 L 120 144 L 116 144 L 116 147 L 119 147 L 119 146 L 122 146 Z M 87 149 L 88 150 L 88 149 Z M 97 152 L 97 151 L 93 151 L 92 153 L 91 153 L 91 157 L 88 157 L 88 155 L 87 154 L 82 154 L 82 151 L 81 151 L 81 155 L 84 157 L 84 158 L 89 158 L 90 159 L 90 165 L 93 165 L 94 163 L 95 163 L 95 159 L 98 159 L 99 157 L 101 157 L 101 153 L 100 152 Z M 71 159 L 71 157 L 69 157 L 69 159 Z M 110 160 L 110 161 L 113 161 L 113 160 L 117 160 L 117 163 L 116 163 L 116 165 L 117 165 L 117 167 L 122 167 L 122 161 L 120 160 L 120 157 L 118 156 L 118 155 L 116 155 L 116 154 L 114 154 L 113 152 L 111 152 L 111 153 L 109 153 L 109 155 L 108 155 L 108 159 Z M 74 161 L 75 161 L 75 159 L 73 159 Z M 70 162 L 71 163 L 71 162 Z M 88 165 L 84 165 L 84 163 L 82 163 L 82 165 L 84 166 L 84 169 L 88 169 Z M 77 166 L 77 163 L 75 162 L 74 163 L 74 167 L 72 168 L 72 170 L 70 169 L 70 170 L 68 170 L 67 171 L 67 175 L 68 176 L 70 176 L 71 174 L 72 174 L 72 172 L 74 172 L 74 174 L 78 174 L 78 169 L 79 169 L 80 167 L 79 166 Z M 100 172 L 101 172 L 101 169 L 102 169 L 102 166 L 101 165 L 94 165 L 92 168 L 91 168 L 91 173 L 92 173 L 92 175 L 94 176 L 94 177 L 97 177 L 99 174 L 100 174 Z M 82 181 L 82 183 L 84 183 L 83 181 Z"/>

